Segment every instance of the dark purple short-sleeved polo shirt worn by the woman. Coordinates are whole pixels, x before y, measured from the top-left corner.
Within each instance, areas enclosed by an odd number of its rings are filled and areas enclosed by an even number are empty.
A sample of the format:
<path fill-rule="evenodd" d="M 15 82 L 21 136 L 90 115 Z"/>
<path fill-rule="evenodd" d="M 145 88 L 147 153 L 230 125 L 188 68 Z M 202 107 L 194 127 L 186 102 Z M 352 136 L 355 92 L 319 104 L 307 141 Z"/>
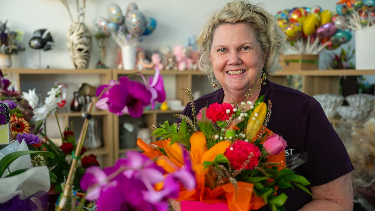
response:
<path fill-rule="evenodd" d="M 348 153 L 336 131 L 328 121 L 324 111 L 311 96 L 289 87 L 267 81 L 259 96 L 265 95 L 264 102 L 272 101 L 272 114 L 267 128 L 281 135 L 288 143 L 286 156 L 307 152 L 308 161 L 294 171 L 305 176 L 311 186 L 322 185 L 351 172 Z M 196 112 L 208 103 L 222 103 L 222 88 L 195 100 Z M 192 118 L 190 103 L 182 112 Z M 279 189 L 278 193 L 288 196 L 285 210 L 297 210 L 312 200 L 311 196 L 298 187 Z M 270 210 L 266 205 L 259 210 Z"/>

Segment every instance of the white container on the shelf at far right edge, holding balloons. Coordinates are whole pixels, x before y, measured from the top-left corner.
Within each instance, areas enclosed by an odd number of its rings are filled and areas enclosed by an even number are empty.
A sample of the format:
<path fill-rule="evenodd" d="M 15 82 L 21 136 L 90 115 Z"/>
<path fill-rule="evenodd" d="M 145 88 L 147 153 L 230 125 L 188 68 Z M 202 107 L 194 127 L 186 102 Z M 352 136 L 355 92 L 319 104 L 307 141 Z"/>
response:
<path fill-rule="evenodd" d="M 356 69 L 375 69 L 375 26 L 356 30 Z"/>

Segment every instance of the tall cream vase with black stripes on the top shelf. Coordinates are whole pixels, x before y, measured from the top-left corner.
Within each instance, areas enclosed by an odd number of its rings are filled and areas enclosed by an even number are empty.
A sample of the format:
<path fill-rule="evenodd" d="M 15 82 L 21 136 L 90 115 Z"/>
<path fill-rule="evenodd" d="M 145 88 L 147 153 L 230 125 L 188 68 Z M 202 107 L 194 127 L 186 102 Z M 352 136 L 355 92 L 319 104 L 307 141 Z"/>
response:
<path fill-rule="evenodd" d="M 84 23 L 71 24 L 66 33 L 66 44 L 75 68 L 87 68 L 90 62 L 91 33 Z"/>

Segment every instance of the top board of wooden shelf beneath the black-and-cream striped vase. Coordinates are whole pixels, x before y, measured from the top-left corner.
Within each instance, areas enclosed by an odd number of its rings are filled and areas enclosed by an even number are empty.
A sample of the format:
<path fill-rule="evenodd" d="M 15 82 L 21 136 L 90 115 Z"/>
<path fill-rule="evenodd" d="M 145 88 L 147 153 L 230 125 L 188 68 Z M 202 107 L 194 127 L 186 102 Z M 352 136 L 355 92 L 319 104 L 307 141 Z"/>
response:
<path fill-rule="evenodd" d="M 8 69 L 13 74 L 110 74 L 111 69 Z"/>

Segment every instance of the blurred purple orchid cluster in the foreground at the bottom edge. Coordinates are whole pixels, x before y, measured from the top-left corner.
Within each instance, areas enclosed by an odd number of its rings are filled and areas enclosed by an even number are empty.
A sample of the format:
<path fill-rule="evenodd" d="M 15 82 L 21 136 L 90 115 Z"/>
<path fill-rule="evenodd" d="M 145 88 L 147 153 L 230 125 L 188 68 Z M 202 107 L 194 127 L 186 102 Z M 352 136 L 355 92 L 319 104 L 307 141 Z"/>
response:
<path fill-rule="evenodd" d="M 185 150 L 186 166 L 164 176 L 163 169 L 153 160 L 139 152 L 128 151 L 126 157 L 119 159 L 113 167 L 104 170 L 88 168 L 80 185 L 83 190 L 89 189 L 86 195 L 88 200 L 98 200 L 98 210 L 165 211 L 168 209 L 168 198 L 178 197 L 180 182 L 188 190 L 195 187 L 188 158 Z M 118 173 L 118 170 L 121 172 Z M 115 175 L 115 172 L 118 174 Z M 159 182 L 164 185 L 162 190 L 157 191 L 154 186 Z"/>

